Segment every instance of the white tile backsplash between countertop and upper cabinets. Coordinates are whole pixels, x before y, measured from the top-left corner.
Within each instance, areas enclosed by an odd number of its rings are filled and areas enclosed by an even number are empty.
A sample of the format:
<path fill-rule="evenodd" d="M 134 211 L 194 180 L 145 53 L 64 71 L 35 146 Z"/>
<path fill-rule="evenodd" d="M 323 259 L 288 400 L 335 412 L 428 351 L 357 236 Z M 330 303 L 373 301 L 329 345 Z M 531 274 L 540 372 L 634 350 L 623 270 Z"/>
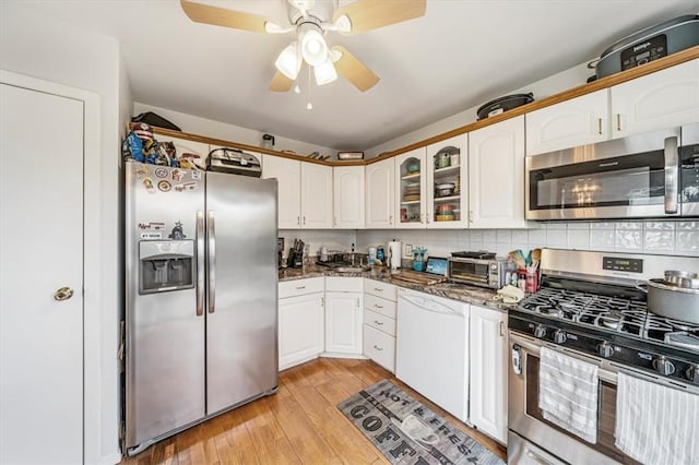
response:
<path fill-rule="evenodd" d="M 294 239 L 309 245 L 311 255 L 329 250 L 367 253 L 369 247 L 400 240 L 449 257 L 458 250 L 488 250 L 506 257 L 514 249 L 537 247 L 699 257 L 699 220 L 530 223 L 529 229 L 281 229 L 285 251 Z"/>

